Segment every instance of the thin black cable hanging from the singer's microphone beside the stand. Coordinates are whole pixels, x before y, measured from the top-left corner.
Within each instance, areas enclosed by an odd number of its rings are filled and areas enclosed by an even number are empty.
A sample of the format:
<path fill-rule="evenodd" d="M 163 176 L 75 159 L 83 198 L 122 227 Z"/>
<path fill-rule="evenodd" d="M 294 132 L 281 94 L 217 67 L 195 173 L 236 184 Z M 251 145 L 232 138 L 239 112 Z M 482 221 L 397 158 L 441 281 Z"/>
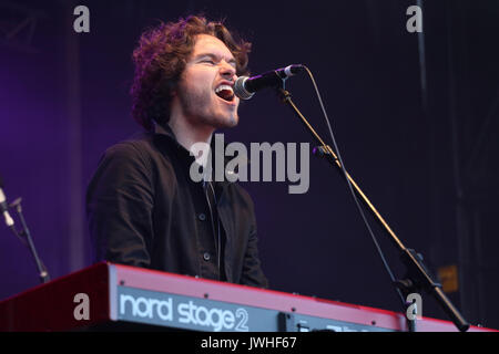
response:
<path fill-rule="evenodd" d="M 390 277 L 391 283 L 395 284 L 394 273 L 393 273 L 390 267 L 388 266 L 388 262 L 385 259 L 385 254 L 383 253 L 383 250 L 379 247 L 378 240 L 377 240 L 376 236 L 374 235 L 369 222 L 367 221 L 366 215 L 365 215 L 360 204 L 358 202 L 358 198 L 357 198 L 357 196 L 356 196 L 356 194 L 354 191 L 354 188 L 352 186 L 350 180 L 348 179 L 347 171 L 346 171 L 346 168 L 345 168 L 345 164 L 343 162 L 342 155 L 339 154 L 338 145 L 336 144 L 336 138 L 335 138 L 335 135 L 333 133 L 333 128 L 332 128 L 330 123 L 329 123 L 329 117 L 327 116 L 326 108 L 324 107 L 319 90 L 318 90 L 317 84 L 316 84 L 316 82 L 314 80 L 314 75 L 312 74 L 310 70 L 307 66 L 304 65 L 304 67 L 305 67 L 306 72 L 308 73 L 308 76 L 310 77 L 310 81 L 312 81 L 312 83 L 314 85 L 314 90 L 315 90 L 315 93 L 317 95 L 317 98 L 318 98 L 318 102 L 319 102 L 319 105 L 320 105 L 320 110 L 323 111 L 324 118 L 326 119 L 327 128 L 329 131 L 329 135 L 330 135 L 330 138 L 333 140 L 333 146 L 335 147 L 335 152 L 336 152 L 336 155 L 337 155 L 338 160 L 339 160 L 340 169 L 342 169 L 342 171 L 343 171 L 343 174 L 345 176 L 345 179 L 347 181 L 347 185 L 348 185 L 348 190 L 350 191 L 352 197 L 354 198 L 354 201 L 355 201 L 355 205 L 357 207 L 357 210 L 360 214 L 360 217 L 363 218 L 363 221 L 364 221 L 364 223 L 365 223 L 365 226 L 366 226 L 366 228 L 367 228 L 367 230 L 368 230 L 368 232 L 370 235 L 370 238 L 371 238 L 371 240 L 373 240 L 373 242 L 374 242 L 374 244 L 376 247 L 376 250 L 377 250 L 379 257 L 381 258 L 383 264 L 385 266 L 385 269 L 386 269 L 388 275 Z M 400 296 L 403 305 L 405 306 L 406 300 L 404 299 L 400 289 L 398 289 L 398 288 L 395 288 L 395 289 L 396 289 L 397 293 Z"/>

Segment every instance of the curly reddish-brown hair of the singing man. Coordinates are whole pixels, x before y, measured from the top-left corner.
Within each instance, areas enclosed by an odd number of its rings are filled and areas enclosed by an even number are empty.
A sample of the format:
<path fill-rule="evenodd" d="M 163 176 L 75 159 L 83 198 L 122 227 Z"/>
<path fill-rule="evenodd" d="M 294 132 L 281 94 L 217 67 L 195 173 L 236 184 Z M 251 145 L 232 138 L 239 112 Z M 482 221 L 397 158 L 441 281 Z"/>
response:
<path fill-rule="evenodd" d="M 170 119 L 172 90 L 176 87 L 198 34 L 210 34 L 224 42 L 236 60 L 237 75 L 247 74 L 251 43 L 235 40 L 222 22 L 208 22 L 203 15 L 161 22 L 142 34 L 133 51 L 132 115 L 145 129 L 153 128 L 153 121 L 163 125 Z"/>

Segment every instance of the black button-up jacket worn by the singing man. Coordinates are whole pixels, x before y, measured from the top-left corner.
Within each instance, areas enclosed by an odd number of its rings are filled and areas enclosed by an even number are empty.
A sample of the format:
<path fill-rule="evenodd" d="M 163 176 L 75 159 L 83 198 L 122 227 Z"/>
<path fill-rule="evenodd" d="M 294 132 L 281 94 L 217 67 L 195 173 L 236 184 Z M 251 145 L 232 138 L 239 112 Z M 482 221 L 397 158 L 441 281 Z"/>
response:
<path fill-rule="evenodd" d="M 215 181 L 207 196 L 190 177 L 194 162 L 171 129 L 110 147 L 86 194 L 94 260 L 267 288 L 249 195 Z"/>

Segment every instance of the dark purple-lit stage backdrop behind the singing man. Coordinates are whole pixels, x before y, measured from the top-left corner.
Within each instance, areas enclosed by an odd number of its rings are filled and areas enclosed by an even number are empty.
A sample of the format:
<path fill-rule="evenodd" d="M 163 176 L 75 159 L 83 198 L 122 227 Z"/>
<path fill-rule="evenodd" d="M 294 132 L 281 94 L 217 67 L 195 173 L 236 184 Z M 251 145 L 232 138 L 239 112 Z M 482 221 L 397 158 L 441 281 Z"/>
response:
<path fill-rule="evenodd" d="M 409 33 L 421 4 L 424 32 Z M 73 9 L 90 9 L 90 33 Z M 131 53 L 141 32 L 204 12 L 253 42 L 253 73 L 305 63 L 315 74 L 345 166 L 406 247 L 438 272 L 456 266 L 449 298 L 472 324 L 499 329 L 499 2 L 1 1 L 0 173 L 57 278 L 91 264 L 84 192 L 110 145 L 140 127 L 130 115 Z M 327 138 L 306 75 L 287 88 Z M 241 107 L 225 140 L 313 143 L 272 91 Z M 327 138 L 327 142 L 329 139 Z M 271 289 L 400 311 L 339 174 L 310 157 L 310 186 L 247 183 Z M 369 217 L 388 263 L 398 253 Z M 18 222 L 19 225 L 19 222 Z M 0 228 L 0 299 L 38 284 L 34 262 Z M 425 316 L 447 319 L 424 295 Z"/>

